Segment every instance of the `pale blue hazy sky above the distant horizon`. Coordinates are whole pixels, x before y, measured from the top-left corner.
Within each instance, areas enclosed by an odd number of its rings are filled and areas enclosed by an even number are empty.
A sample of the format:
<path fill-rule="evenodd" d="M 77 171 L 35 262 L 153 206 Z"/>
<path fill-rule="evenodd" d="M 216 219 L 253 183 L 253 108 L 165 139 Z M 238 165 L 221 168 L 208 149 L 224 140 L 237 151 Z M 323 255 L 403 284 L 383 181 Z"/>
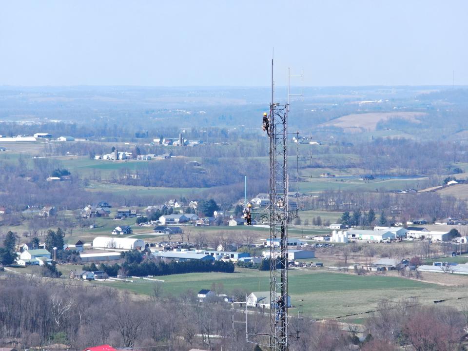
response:
<path fill-rule="evenodd" d="M 0 85 L 468 84 L 468 1 L 1 0 Z"/>

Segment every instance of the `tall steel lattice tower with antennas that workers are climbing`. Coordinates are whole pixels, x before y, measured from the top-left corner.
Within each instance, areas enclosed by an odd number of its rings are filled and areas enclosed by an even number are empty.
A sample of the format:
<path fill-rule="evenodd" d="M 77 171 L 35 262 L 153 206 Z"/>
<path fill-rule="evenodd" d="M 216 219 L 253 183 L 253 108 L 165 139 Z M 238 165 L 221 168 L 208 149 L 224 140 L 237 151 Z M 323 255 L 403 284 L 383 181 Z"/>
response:
<path fill-rule="evenodd" d="M 301 75 L 302 76 L 302 75 Z M 261 214 L 270 224 L 270 333 L 251 334 L 245 321 L 246 341 L 269 347 L 271 351 L 288 351 L 288 223 L 297 216 L 297 210 L 289 210 L 288 203 L 288 112 L 289 79 L 294 77 L 288 70 L 288 98 L 284 105 L 274 102 L 272 59 L 272 100 L 270 103 L 270 205 Z M 301 94 L 302 95 L 302 94 Z M 293 133 L 296 134 L 296 133 Z M 247 297 L 246 297 L 247 302 Z M 234 306 L 234 303 L 233 303 Z M 297 332 L 296 332 L 297 335 Z M 268 344 L 249 340 L 249 336 L 268 337 Z"/>

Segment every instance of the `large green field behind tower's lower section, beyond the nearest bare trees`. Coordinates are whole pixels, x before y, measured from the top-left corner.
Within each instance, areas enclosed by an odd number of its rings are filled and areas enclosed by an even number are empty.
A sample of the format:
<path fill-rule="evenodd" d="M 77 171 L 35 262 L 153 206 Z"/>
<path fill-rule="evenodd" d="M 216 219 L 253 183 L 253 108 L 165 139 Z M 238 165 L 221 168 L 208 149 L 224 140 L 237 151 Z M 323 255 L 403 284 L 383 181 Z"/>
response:
<path fill-rule="evenodd" d="M 238 269 L 236 273 L 189 273 L 159 276 L 163 279 L 163 293 L 178 295 L 187 290 L 197 292 L 210 289 L 213 283 L 222 284 L 223 292 L 234 289 L 252 291 L 269 290 L 269 273 Z M 154 282 L 142 279 L 130 282 L 102 282 L 106 286 L 151 295 Z M 449 288 L 447 288 L 449 289 Z M 292 305 L 313 318 L 336 318 L 352 313 L 363 313 L 376 307 L 382 299 L 398 300 L 402 297 L 443 293 L 444 288 L 394 276 L 361 276 L 320 271 L 290 271 L 289 292 Z M 463 294 L 459 290 L 460 294 Z M 296 313 L 293 310 L 292 314 Z"/>

